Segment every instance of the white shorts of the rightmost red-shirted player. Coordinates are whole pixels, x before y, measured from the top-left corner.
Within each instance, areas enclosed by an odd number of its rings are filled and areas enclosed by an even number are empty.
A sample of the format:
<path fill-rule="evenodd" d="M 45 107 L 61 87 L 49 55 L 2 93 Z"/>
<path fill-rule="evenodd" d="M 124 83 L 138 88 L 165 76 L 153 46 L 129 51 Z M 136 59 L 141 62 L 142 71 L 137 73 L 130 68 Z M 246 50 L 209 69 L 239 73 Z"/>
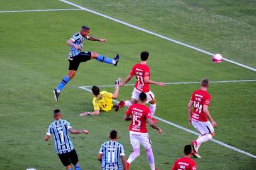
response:
<path fill-rule="evenodd" d="M 198 132 L 201 133 L 201 135 L 214 132 L 214 128 L 209 121 L 201 122 L 192 118 L 192 125 Z"/>

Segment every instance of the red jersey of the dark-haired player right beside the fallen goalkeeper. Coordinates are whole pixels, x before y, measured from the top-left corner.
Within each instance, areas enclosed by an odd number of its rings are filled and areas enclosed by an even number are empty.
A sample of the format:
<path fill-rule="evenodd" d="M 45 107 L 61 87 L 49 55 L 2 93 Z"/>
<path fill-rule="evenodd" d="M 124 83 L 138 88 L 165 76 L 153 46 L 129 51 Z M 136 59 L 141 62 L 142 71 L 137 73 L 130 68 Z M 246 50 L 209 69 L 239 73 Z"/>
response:
<path fill-rule="evenodd" d="M 144 93 L 149 92 L 149 84 L 144 81 L 144 77 L 149 77 L 150 79 L 150 69 L 146 64 L 136 64 L 132 67 L 130 72 L 131 76 L 136 76 L 135 88 Z"/>

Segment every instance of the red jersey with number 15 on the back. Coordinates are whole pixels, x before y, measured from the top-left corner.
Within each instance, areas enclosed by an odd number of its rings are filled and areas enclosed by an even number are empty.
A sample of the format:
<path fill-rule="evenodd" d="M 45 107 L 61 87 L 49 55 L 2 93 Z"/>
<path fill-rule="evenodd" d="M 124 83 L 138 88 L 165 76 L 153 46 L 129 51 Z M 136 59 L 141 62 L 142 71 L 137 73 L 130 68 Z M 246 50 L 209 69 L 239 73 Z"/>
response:
<path fill-rule="evenodd" d="M 129 109 L 126 111 L 125 114 L 127 116 L 129 115 L 132 116 L 132 122 L 129 127 L 130 131 L 141 132 L 141 133 L 148 132 L 146 120 L 148 118 L 151 118 L 152 115 L 147 106 L 135 103 L 129 107 Z"/>

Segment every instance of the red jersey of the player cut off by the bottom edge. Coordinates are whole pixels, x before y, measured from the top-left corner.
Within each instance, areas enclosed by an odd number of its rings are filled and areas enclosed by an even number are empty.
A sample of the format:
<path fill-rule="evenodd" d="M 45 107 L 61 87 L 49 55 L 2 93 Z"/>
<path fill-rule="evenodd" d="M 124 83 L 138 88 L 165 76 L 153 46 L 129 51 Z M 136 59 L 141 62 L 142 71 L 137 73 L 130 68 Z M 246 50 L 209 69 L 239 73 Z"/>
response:
<path fill-rule="evenodd" d="M 181 157 L 177 161 L 174 162 L 172 170 L 196 170 L 197 165 L 195 164 L 195 161 L 191 159 L 190 157 Z"/>

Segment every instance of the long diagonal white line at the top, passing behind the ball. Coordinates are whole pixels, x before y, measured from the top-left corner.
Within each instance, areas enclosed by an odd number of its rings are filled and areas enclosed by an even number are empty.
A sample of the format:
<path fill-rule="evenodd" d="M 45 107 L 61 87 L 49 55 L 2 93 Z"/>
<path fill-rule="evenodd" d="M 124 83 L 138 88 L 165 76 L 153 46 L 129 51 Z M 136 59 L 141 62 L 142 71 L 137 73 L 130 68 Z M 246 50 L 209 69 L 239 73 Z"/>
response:
<path fill-rule="evenodd" d="M 171 41 L 171 42 L 174 42 L 174 43 L 183 45 L 183 46 L 185 46 L 185 47 L 192 48 L 192 49 L 197 50 L 197 51 L 199 51 L 199 52 L 202 52 L 202 53 L 204 53 L 204 54 L 208 54 L 208 55 L 211 55 L 211 56 L 214 55 L 214 54 L 212 54 L 211 52 L 207 52 L 207 51 L 205 51 L 205 50 L 201 50 L 201 49 L 199 49 L 199 48 L 197 48 L 197 47 L 193 47 L 193 46 L 191 46 L 191 45 L 187 45 L 187 44 L 185 44 L 185 43 L 178 42 L 177 40 L 173 40 L 173 39 L 171 39 L 171 38 L 165 37 L 165 36 L 160 35 L 160 34 L 158 34 L 158 33 L 154 33 L 154 32 L 152 32 L 152 31 L 146 30 L 146 29 L 144 29 L 144 28 L 140 28 L 140 27 L 138 27 L 138 26 L 131 25 L 131 24 L 126 23 L 126 22 L 124 22 L 124 21 L 117 20 L 117 19 L 112 18 L 112 17 L 110 17 L 110 16 L 107 16 L 107 15 L 105 15 L 105 14 L 98 13 L 98 12 L 93 11 L 93 10 L 91 10 L 91 9 L 84 8 L 84 7 L 82 7 L 82 6 L 79 6 L 78 4 L 71 3 L 71 2 L 66 1 L 66 0 L 59 0 L 59 1 L 61 1 L 61 2 L 63 2 L 63 3 L 66 3 L 66 4 L 70 4 L 70 5 L 72 5 L 72 6 L 76 6 L 77 8 L 83 9 L 84 11 L 88 11 L 88 12 L 93 13 L 93 14 L 97 14 L 97 15 L 102 16 L 102 17 L 104 17 L 104 18 L 108 18 L 109 20 L 115 21 L 115 22 L 117 22 L 117 23 L 121 23 L 122 25 L 126 25 L 126 26 L 129 26 L 129 27 L 131 27 L 131 28 L 135 28 L 136 30 L 141 30 L 141 31 L 143 31 L 143 32 L 145 32 L 145 33 L 149 33 L 149 34 L 151 34 L 151 35 L 155 35 L 156 37 L 160 37 L 160 38 L 163 38 L 163 39 L 165 39 L 165 40 L 168 40 L 168 41 Z M 239 62 L 235 62 L 235 61 L 233 61 L 233 60 L 226 59 L 226 58 L 223 58 L 223 60 L 225 60 L 226 62 L 231 62 L 232 64 L 239 65 L 239 66 L 241 66 L 241 67 L 245 67 L 245 68 L 250 69 L 250 70 L 252 70 L 252 71 L 256 71 L 256 69 L 254 69 L 253 67 L 249 67 L 249 66 L 247 66 L 247 65 L 240 64 Z"/>

